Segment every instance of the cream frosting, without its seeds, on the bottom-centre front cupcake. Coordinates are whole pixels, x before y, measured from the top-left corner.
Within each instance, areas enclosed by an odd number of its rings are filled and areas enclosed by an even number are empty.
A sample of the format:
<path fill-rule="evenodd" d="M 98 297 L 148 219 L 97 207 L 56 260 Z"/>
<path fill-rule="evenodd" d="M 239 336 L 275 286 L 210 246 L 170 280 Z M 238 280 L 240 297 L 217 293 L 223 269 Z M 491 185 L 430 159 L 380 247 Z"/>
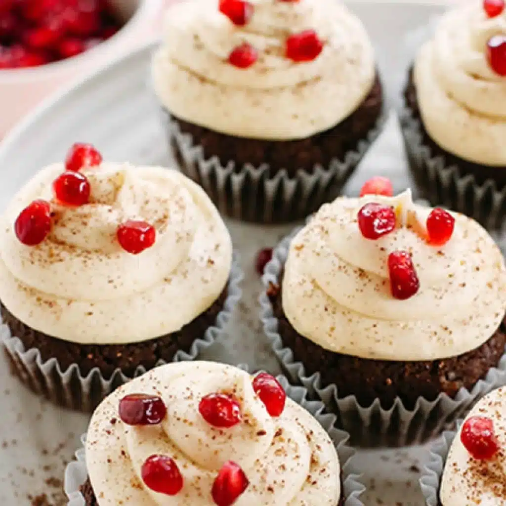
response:
<path fill-rule="evenodd" d="M 182 362 L 155 368 L 116 390 L 96 410 L 87 436 L 88 472 L 100 506 L 210 506 L 213 481 L 228 460 L 249 480 L 237 506 L 336 506 L 340 466 L 327 433 L 290 399 L 280 417 L 271 417 L 251 381 L 229 365 Z M 215 392 L 233 392 L 241 403 L 241 424 L 220 430 L 200 416 L 200 399 Z M 159 426 L 130 427 L 118 419 L 119 400 L 131 393 L 162 398 L 167 416 Z M 178 495 L 144 486 L 140 470 L 153 454 L 177 462 L 184 478 Z"/>

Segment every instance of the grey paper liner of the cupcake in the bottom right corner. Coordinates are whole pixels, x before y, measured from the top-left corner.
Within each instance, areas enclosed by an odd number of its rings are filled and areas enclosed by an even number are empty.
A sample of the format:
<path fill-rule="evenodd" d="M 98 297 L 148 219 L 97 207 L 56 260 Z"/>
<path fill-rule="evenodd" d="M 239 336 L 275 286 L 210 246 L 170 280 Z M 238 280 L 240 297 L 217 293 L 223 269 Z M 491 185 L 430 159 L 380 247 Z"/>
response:
<path fill-rule="evenodd" d="M 457 421 L 457 431 L 462 420 Z M 457 431 L 445 431 L 430 448 L 429 463 L 424 466 L 420 477 L 420 488 L 426 506 L 439 506 L 439 487 L 446 464 L 446 457 Z"/>

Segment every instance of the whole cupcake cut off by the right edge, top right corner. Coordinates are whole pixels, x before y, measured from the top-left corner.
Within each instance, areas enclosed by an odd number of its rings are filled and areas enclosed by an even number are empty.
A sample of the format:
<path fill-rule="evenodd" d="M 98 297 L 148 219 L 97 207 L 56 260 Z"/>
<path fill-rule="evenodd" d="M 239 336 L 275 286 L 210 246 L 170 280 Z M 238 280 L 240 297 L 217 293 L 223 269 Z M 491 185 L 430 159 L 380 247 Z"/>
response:
<path fill-rule="evenodd" d="M 506 216 L 506 11 L 474 0 L 448 12 L 418 52 L 402 128 L 424 198 L 499 228 Z"/>

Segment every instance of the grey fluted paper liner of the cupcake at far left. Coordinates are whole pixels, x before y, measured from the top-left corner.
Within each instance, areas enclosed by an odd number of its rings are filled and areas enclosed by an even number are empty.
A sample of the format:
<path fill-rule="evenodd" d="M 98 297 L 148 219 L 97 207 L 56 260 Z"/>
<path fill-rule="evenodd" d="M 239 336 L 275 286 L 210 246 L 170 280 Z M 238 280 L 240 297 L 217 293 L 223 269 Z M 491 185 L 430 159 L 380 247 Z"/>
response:
<path fill-rule="evenodd" d="M 232 262 L 228 282 L 228 294 L 223 309 L 217 316 L 214 326 L 209 327 L 201 338 L 196 339 L 189 353 L 179 350 L 174 361 L 194 360 L 202 351 L 209 348 L 224 334 L 225 327 L 232 316 L 232 312 L 241 298 L 240 282 L 243 278 L 242 270 L 236 256 Z M 78 364 L 72 364 L 62 370 L 58 360 L 51 358 L 43 361 L 36 348 L 26 350 L 17 336 L 13 336 L 9 326 L 0 326 L 0 341 L 4 345 L 5 354 L 15 375 L 36 394 L 42 395 L 54 403 L 80 411 L 91 412 L 109 393 L 119 385 L 129 381 L 131 377 L 116 369 L 110 379 L 105 379 L 98 367 L 93 368 L 83 376 Z M 163 364 L 159 360 L 156 365 Z M 146 372 L 139 366 L 134 377 Z"/>

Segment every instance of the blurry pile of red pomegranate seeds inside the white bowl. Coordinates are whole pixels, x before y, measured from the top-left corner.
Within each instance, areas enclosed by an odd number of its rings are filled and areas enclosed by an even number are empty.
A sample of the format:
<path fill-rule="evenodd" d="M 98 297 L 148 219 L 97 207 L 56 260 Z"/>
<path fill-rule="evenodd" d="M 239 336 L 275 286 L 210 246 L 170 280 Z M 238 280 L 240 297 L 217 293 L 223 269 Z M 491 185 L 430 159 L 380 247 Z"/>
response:
<path fill-rule="evenodd" d="M 119 28 L 106 0 L 1 0 L 0 69 L 76 56 Z"/>

